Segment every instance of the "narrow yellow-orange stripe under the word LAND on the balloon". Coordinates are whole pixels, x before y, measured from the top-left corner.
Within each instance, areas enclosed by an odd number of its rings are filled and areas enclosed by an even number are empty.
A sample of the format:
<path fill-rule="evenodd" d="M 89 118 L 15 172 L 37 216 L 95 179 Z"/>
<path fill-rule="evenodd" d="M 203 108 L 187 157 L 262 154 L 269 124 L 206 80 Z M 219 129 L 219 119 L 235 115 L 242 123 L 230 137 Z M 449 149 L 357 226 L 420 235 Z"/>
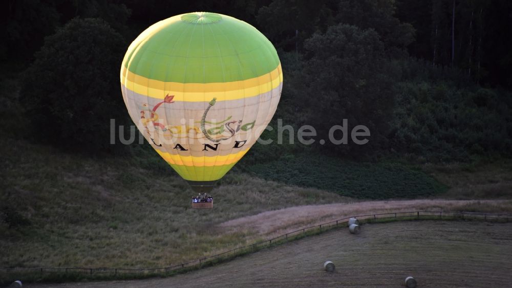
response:
<path fill-rule="evenodd" d="M 183 156 L 177 154 L 170 154 L 167 152 L 162 152 L 160 150 L 156 150 L 160 156 L 167 161 L 169 164 L 183 165 L 183 166 L 193 166 L 193 167 L 202 167 L 202 166 L 221 166 L 227 164 L 233 164 L 238 162 L 249 149 L 223 155 L 223 156 Z"/>

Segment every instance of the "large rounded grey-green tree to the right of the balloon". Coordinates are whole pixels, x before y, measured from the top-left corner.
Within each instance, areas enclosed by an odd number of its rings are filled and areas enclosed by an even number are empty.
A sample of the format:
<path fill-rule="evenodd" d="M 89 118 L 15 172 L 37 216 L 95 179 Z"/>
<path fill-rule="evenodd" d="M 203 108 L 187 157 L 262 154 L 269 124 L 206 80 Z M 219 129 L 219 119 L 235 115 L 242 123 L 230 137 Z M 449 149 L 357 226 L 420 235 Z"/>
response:
<path fill-rule="evenodd" d="M 336 154 L 385 146 L 383 136 L 393 108 L 396 72 L 377 32 L 339 24 L 326 33 L 315 33 L 306 41 L 305 49 L 308 59 L 298 82 L 304 87 L 297 89 L 303 93 L 295 99 L 306 113 L 303 124 L 315 127 L 324 139 L 333 125 L 342 125 L 343 119 L 348 119 L 349 133 L 356 125 L 369 128 L 367 145 L 331 146 L 327 141 L 326 146 Z"/>

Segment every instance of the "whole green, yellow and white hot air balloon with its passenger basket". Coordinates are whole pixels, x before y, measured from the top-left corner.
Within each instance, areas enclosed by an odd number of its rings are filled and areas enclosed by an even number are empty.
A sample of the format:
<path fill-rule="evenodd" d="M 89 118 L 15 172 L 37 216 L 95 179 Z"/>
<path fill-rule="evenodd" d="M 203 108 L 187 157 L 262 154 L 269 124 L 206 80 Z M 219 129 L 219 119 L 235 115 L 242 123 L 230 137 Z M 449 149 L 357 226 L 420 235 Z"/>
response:
<path fill-rule="evenodd" d="M 126 51 L 120 76 L 139 131 L 199 193 L 194 208 L 212 207 L 206 193 L 267 127 L 283 87 L 269 40 L 241 20 L 208 12 L 147 28 Z"/>

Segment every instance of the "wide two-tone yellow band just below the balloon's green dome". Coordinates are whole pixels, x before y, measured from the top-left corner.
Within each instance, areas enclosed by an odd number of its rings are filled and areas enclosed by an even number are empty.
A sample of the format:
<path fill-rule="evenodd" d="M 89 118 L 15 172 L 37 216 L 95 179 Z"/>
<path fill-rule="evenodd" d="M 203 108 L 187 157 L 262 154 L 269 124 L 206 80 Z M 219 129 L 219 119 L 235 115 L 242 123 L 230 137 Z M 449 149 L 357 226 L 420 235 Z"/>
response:
<path fill-rule="evenodd" d="M 217 101 L 243 99 L 269 92 L 282 82 L 281 64 L 265 75 L 226 83 L 163 82 L 134 74 L 125 68 L 121 72 L 121 84 L 138 94 L 156 99 L 163 99 L 168 94 L 174 95 L 175 101 L 190 102 L 209 101 L 214 97 Z M 166 87 L 170 90 L 165 90 Z"/>

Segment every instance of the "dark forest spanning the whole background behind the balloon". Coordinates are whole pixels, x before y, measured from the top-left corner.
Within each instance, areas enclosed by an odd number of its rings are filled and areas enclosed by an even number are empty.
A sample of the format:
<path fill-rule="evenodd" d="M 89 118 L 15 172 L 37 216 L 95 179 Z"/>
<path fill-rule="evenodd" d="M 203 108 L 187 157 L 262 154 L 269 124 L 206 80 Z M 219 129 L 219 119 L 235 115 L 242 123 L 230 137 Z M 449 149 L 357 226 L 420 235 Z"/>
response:
<path fill-rule="evenodd" d="M 274 118 L 318 134 L 345 118 L 372 133 L 368 145 L 314 146 L 320 153 L 450 161 L 512 151 L 506 0 L 8 1 L 0 57 L 22 63 L 30 134 L 120 149 L 104 139 L 110 118 L 130 124 L 118 87 L 127 45 L 158 20 L 197 10 L 245 20 L 274 44 L 285 73 Z M 253 149 L 275 158 L 310 148 Z"/>

